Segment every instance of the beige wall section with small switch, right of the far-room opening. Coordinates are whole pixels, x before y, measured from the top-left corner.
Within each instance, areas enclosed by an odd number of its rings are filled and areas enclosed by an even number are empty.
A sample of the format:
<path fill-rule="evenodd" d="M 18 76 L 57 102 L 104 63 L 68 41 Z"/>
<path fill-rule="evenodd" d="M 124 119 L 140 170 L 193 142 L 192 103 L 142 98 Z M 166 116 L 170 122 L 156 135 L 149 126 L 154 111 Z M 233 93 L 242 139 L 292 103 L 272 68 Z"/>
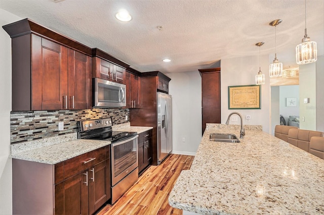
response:
<path fill-rule="evenodd" d="M 323 83 L 320 83 L 321 85 Z M 323 91 L 322 91 L 323 92 Z M 300 129 L 316 130 L 316 64 L 299 66 Z M 309 103 L 304 103 L 309 98 Z"/>

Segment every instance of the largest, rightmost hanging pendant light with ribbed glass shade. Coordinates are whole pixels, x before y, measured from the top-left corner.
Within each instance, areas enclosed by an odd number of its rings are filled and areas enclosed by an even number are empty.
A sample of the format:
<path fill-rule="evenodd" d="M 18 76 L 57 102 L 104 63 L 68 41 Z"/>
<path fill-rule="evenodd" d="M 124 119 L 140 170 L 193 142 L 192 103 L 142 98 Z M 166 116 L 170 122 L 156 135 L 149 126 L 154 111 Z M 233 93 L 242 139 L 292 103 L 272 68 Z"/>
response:
<path fill-rule="evenodd" d="M 306 28 L 306 0 L 305 0 L 305 35 L 302 43 L 296 46 L 296 62 L 299 65 L 310 64 L 317 61 L 317 47 L 316 42 L 310 41 L 307 36 Z"/>

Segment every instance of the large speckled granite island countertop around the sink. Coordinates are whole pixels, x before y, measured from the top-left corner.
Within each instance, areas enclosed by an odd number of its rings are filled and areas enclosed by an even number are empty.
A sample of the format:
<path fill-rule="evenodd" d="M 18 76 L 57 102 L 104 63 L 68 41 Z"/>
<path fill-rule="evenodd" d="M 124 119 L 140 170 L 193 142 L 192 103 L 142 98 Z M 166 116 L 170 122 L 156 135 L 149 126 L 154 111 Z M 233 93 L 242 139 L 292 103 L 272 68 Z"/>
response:
<path fill-rule="evenodd" d="M 226 126 L 208 126 L 171 206 L 199 214 L 324 213 L 323 159 L 263 131 L 246 130 L 240 143 L 209 140 L 210 133 L 239 137 L 239 127 Z"/>

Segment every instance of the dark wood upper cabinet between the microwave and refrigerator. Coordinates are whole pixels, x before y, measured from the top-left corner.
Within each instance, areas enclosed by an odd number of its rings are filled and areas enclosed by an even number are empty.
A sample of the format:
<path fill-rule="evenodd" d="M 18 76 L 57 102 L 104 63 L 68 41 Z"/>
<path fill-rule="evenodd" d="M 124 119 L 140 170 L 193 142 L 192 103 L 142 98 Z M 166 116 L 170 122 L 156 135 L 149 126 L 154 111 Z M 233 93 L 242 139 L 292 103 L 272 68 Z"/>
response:
<path fill-rule="evenodd" d="M 128 109 L 134 109 L 134 108 L 141 108 L 141 102 L 140 102 L 140 92 L 141 92 L 141 77 L 138 75 L 135 75 L 130 71 L 135 71 L 132 68 L 129 68 L 126 70 L 126 108 Z M 138 72 L 139 73 L 139 72 Z"/>

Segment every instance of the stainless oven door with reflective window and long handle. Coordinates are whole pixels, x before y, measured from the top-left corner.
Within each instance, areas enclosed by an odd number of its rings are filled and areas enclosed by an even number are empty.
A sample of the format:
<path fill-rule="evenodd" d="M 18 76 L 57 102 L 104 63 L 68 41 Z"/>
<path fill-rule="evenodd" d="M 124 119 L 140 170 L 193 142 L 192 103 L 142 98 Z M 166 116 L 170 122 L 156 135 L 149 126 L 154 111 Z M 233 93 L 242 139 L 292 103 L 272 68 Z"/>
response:
<path fill-rule="evenodd" d="M 112 186 L 138 167 L 137 137 L 111 144 Z"/>

